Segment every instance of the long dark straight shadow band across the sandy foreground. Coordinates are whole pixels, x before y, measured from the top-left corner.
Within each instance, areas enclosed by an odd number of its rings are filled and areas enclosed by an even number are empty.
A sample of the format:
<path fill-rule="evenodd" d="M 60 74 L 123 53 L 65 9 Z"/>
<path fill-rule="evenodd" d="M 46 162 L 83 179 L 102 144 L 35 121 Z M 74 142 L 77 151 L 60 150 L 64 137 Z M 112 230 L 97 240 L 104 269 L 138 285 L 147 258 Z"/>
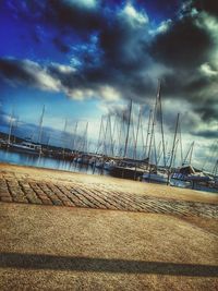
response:
<path fill-rule="evenodd" d="M 218 277 L 218 266 L 47 254 L 0 253 L 1 268 Z"/>

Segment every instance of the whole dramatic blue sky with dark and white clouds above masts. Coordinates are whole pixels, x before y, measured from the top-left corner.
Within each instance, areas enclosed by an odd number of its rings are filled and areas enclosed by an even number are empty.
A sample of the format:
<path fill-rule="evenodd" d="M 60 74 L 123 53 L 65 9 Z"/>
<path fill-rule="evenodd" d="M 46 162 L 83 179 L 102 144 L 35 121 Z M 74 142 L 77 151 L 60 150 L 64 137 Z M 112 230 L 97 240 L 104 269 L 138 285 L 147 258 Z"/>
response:
<path fill-rule="evenodd" d="M 53 133 L 88 121 L 97 138 L 101 116 L 130 99 L 146 123 L 161 80 L 166 136 L 180 112 L 199 167 L 218 140 L 217 32 L 214 0 L 2 0 L 0 130 L 12 111 L 37 125 L 45 105 Z"/>

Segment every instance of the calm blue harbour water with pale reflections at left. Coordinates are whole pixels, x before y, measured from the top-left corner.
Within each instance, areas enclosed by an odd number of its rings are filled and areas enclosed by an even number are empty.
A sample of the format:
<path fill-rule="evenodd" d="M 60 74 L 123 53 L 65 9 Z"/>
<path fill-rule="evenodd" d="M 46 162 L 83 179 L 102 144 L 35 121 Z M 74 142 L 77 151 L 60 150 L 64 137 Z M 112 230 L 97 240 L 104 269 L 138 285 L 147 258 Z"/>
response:
<path fill-rule="evenodd" d="M 100 169 L 94 169 L 90 166 L 81 165 L 76 162 L 58 160 L 53 158 L 47 157 L 38 157 L 34 155 L 28 155 L 24 153 L 14 153 L 9 150 L 0 149 L 0 161 L 14 163 L 14 165 L 23 165 L 23 166 L 32 166 L 39 168 L 49 168 L 57 169 L 63 171 L 72 171 L 72 172 L 85 172 L 89 174 L 101 174 Z M 104 171 L 104 174 L 108 174 Z"/>

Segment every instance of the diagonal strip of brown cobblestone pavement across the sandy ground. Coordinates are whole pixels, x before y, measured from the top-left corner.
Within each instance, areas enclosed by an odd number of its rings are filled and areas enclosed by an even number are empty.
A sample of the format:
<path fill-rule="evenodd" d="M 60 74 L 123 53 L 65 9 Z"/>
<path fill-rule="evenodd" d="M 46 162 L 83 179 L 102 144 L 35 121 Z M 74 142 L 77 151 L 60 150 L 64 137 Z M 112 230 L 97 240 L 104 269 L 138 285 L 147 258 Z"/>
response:
<path fill-rule="evenodd" d="M 218 218 L 216 204 L 134 195 L 99 183 L 34 180 L 3 171 L 0 172 L 0 201 Z"/>

